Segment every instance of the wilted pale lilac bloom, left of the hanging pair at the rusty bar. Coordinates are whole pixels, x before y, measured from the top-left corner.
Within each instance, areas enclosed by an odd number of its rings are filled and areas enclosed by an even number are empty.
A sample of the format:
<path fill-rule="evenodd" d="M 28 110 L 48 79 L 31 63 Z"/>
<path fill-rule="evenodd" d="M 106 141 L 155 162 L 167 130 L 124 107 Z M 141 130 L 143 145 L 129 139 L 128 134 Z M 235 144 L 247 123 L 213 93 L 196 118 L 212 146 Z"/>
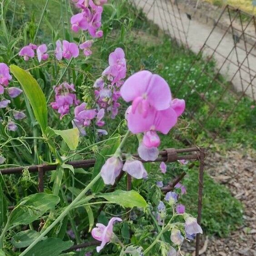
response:
<path fill-rule="evenodd" d="M 101 177 L 106 185 L 111 184 L 114 185 L 115 178 L 120 174 L 123 168 L 123 162 L 119 157 L 112 156 L 105 164 L 102 166 L 100 170 Z"/>

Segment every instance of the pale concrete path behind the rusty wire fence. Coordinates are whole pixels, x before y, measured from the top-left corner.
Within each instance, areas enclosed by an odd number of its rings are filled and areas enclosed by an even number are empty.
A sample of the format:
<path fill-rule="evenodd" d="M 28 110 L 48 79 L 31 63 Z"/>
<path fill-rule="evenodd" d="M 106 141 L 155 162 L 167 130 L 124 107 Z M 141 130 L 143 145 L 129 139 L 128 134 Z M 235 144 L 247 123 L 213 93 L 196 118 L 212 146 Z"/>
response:
<path fill-rule="evenodd" d="M 216 26 L 211 33 L 213 22 L 210 25 L 204 24 L 193 16 L 191 20 L 188 19 L 182 6 L 179 5 L 178 10 L 173 0 L 133 0 L 133 2 L 137 8 L 143 9 L 148 19 L 159 25 L 172 38 L 183 44 L 187 42 L 188 47 L 195 53 L 204 46 L 202 53 L 208 57 L 213 55 L 217 72 L 231 81 L 237 92 L 256 99 L 256 31 L 255 35 L 250 35 L 250 40 L 245 42 L 244 35 L 236 28 L 229 28 L 225 34 L 225 30 Z M 242 30 L 241 24 L 240 28 L 237 28 Z M 238 40 L 239 37 L 240 40 L 234 47 L 234 38 Z"/>

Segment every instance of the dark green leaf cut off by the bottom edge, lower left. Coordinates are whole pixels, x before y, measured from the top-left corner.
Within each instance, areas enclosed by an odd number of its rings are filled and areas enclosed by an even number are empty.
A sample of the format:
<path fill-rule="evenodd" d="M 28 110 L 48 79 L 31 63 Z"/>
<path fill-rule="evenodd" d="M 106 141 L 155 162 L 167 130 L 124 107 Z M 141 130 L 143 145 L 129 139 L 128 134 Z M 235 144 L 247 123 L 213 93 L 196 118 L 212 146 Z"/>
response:
<path fill-rule="evenodd" d="M 62 241 L 60 238 L 50 237 L 37 243 L 26 256 L 59 256 L 73 245 L 72 241 Z"/>

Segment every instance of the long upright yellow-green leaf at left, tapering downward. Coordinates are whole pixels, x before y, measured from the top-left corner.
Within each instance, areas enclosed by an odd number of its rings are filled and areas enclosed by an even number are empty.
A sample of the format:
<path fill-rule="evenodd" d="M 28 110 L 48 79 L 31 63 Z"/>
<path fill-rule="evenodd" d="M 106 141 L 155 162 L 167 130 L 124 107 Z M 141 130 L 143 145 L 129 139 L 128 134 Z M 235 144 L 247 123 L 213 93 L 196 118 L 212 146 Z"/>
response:
<path fill-rule="evenodd" d="M 20 82 L 20 85 L 33 109 L 35 119 L 38 121 L 42 133 L 45 134 L 47 127 L 47 105 L 42 89 L 29 72 L 16 65 L 10 65 L 10 71 Z"/>

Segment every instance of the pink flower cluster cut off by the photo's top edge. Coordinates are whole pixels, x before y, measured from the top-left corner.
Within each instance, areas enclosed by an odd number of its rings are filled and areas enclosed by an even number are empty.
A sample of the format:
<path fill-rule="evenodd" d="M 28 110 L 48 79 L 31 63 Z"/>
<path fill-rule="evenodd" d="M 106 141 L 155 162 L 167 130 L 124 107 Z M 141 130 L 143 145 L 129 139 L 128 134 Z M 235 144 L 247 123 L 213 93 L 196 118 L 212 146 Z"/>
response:
<path fill-rule="evenodd" d="M 76 7 L 81 9 L 81 12 L 71 17 L 71 29 L 75 32 L 79 30 L 87 30 L 92 37 L 101 37 L 103 31 L 101 27 L 102 6 L 95 5 L 93 0 L 73 0 Z M 98 1 L 98 4 L 104 4 L 106 1 Z"/>

